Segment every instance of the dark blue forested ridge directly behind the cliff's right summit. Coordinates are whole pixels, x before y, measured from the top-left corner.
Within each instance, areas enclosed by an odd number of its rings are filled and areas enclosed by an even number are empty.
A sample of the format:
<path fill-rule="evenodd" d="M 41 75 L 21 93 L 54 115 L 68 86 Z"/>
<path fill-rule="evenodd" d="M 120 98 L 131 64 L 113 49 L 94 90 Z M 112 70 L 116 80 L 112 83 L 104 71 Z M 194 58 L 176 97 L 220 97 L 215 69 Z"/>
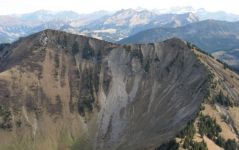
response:
<path fill-rule="evenodd" d="M 123 39 L 120 43 L 145 43 L 179 37 L 203 50 L 215 52 L 239 48 L 239 22 L 206 20 L 178 28 L 155 28 Z"/>

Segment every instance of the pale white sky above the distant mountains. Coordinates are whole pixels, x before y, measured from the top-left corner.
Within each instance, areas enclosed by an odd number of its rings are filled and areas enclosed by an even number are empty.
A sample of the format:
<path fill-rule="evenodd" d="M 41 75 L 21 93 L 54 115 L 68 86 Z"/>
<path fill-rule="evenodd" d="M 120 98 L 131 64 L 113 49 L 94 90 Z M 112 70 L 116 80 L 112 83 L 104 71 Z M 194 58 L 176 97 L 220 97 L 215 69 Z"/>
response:
<path fill-rule="evenodd" d="M 162 9 L 181 6 L 239 14 L 239 0 L 0 0 L 0 14 L 19 14 L 39 9 L 90 13 L 97 10 L 114 11 L 137 7 Z"/>

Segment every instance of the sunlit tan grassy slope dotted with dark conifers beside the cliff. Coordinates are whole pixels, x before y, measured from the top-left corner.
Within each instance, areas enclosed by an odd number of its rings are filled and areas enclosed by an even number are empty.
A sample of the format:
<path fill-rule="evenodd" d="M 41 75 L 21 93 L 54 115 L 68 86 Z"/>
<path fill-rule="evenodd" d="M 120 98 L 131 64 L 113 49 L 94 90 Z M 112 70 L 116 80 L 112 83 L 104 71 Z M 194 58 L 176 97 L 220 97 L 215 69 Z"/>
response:
<path fill-rule="evenodd" d="M 239 76 L 191 43 L 188 47 L 207 68 L 208 90 L 197 116 L 176 135 L 174 140 L 156 150 L 239 149 Z"/>

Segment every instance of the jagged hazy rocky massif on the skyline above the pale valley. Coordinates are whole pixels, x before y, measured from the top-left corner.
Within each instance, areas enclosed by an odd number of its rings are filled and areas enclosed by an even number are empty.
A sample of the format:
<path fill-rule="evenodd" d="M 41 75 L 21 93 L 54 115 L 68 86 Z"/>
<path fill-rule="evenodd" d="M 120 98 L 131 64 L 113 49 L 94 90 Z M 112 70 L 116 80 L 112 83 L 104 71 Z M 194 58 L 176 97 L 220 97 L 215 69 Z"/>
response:
<path fill-rule="evenodd" d="M 193 13 L 158 15 L 147 10 L 136 11 L 127 9 L 118 11 L 114 15 L 106 18 L 103 25 L 135 27 L 151 24 L 152 26 L 164 26 L 175 22 L 175 24 L 172 24 L 170 27 L 177 27 L 197 21 L 198 18 Z"/>

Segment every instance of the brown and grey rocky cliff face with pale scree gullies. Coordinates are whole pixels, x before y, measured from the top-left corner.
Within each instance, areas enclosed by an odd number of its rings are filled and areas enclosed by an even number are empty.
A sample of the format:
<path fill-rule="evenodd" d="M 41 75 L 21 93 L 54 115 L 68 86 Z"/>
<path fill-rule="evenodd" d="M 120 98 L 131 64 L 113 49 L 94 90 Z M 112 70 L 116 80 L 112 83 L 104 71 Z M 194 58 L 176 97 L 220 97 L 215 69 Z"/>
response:
<path fill-rule="evenodd" d="M 207 91 L 207 70 L 179 39 L 117 45 L 46 30 L 2 51 L 0 149 L 155 148 Z"/>

